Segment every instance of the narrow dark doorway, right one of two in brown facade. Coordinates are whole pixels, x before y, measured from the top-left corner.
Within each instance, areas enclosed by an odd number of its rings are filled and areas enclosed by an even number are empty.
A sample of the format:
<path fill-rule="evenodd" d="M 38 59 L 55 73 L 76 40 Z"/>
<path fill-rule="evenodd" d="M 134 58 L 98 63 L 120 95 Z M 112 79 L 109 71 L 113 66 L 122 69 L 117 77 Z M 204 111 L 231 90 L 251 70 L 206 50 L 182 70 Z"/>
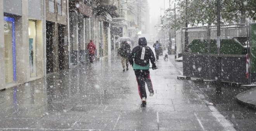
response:
<path fill-rule="evenodd" d="M 58 25 L 58 53 L 59 53 L 59 70 L 65 69 L 64 54 L 64 25 Z"/>

